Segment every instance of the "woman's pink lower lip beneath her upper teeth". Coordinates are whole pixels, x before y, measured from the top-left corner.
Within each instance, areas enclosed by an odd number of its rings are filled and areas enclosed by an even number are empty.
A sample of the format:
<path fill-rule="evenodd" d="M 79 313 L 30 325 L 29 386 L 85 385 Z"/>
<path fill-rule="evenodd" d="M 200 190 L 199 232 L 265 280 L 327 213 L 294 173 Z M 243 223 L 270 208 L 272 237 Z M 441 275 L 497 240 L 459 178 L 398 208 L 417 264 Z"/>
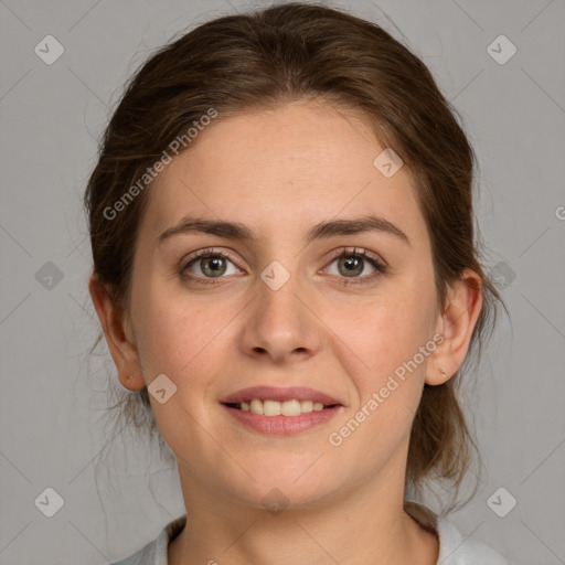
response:
<path fill-rule="evenodd" d="M 260 414 L 254 414 L 253 412 L 232 408 L 225 404 L 222 404 L 222 406 L 241 424 L 256 431 L 260 431 L 262 434 L 275 436 L 289 436 L 326 424 L 342 408 L 342 406 L 332 406 L 331 408 L 323 408 L 322 411 L 300 414 L 300 416 L 263 416 Z"/>

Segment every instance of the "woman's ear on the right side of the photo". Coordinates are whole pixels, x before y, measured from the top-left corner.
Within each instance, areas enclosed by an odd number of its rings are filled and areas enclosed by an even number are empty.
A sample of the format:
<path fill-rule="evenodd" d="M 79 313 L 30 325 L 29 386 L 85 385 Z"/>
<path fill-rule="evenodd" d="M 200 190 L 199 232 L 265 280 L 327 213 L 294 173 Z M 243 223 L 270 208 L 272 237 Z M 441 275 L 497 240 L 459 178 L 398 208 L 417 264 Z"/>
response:
<path fill-rule="evenodd" d="M 436 327 L 444 341 L 437 347 L 428 363 L 427 384 L 444 384 L 462 365 L 481 309 L 481 277 L 471 269 L 465 269 L 448 287 L 445 309 Z"/>

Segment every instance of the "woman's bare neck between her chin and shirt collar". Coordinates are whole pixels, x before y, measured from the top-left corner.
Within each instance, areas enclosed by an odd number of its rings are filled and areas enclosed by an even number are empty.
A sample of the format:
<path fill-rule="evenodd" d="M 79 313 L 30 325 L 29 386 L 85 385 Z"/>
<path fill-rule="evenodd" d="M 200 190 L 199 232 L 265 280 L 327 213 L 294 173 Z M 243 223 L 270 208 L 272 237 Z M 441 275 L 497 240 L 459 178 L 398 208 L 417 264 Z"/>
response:
<path fill-rule="evenodd" d="M 274 513 L 196 484 L 189 477 L 181 480 L 189 509 L 186 525 L 169 546 L 169 565 L 437 562 L 437 536 L 404 511 L 403 486 L 402 495 L 390 483 L 386 489 L 363 484 L 316 507 L 289 505 Z"/>

